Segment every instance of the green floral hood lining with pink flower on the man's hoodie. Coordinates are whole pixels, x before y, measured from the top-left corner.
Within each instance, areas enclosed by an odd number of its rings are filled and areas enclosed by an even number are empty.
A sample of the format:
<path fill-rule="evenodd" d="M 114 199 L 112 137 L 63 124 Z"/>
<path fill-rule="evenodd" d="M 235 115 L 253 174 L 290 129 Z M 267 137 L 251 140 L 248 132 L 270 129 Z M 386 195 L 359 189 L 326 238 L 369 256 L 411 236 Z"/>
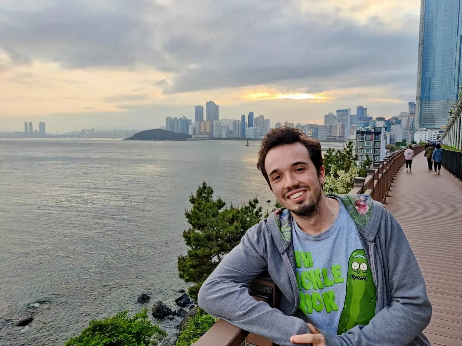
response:
<path fill-rule="evenodd" d="M 357 227 L 365 227 L 371 216 L 373 199 L 369 195 L 337 195 L 328 193 L 326 197 L 337 197 L 350 213 Z M 274 212 L 274 221 L 278 225 L 282 238 L 286 243 L 292 241 L 292 216 L 289 210 L 280 208 Z"/>

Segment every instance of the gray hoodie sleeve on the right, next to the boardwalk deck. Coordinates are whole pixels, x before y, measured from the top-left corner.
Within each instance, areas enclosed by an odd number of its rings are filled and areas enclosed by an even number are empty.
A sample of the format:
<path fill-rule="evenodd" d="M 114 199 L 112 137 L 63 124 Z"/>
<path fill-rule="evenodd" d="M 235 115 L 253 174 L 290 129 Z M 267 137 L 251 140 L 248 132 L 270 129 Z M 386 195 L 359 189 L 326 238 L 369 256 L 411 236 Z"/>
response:
<path fill-rule="evenodd" d="M 380 227 L 384 236 L 381 260 L 391 304 L 377 312 L 369 324 L 356 326 L 342 335 L 321 330 L 326 346 L 405 346 L 430 323 L 432 305 L 419 264 L 400 224 L 387 209 Z"/>

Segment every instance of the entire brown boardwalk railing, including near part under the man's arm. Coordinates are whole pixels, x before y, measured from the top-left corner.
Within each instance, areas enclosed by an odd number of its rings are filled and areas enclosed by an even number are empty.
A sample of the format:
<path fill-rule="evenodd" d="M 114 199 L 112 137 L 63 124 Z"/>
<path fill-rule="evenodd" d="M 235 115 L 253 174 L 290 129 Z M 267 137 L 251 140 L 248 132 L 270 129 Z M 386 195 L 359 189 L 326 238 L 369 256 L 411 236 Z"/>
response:
<path fill-rule="evenodd" d="M 423 145 L 413 148 L 415 154 L 423 149 Z M 383 161 L 374 162 L 373 168 L 367 170 L 366 178 L 354 178 L 355 186 L 349 194 L 366 194 L 376 201 L 386 203 L 393 179 L 404 163 L 404 150 L 395 151 Z M 255 285 L 260 286 L 255 289 Z M 272 292 L 259 292 L 258 289 L 262 287 L 263 289 L 271 288 Z M 256 300 L 266 301 L 271 307 L 279 308 L 280 291 L 271 278 L 265 274 L 249 284 L 249 294 Z M 194 346 L 240 346 L 244 340 L 248 346 L 277 346 L 271 340 L 256 334 L 249 334 L 224 320 L 218 320 L 202 335 L 201 339 L 195 342 Z"/>

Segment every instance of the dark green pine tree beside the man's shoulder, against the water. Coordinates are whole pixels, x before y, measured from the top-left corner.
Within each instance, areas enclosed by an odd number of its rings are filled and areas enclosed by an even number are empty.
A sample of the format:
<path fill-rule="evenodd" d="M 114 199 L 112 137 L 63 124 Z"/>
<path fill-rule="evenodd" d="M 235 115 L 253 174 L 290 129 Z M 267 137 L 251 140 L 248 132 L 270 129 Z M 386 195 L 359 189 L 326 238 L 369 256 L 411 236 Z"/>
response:
<path fill-rule="evenodd" d="M 186 256 L 178 257 L 178 272 L 181 279 L 195 283 L 188 293 L 197 300 L 201 285 L 244 233 L 261 220 L 262 212 L 256 198 L 240 208 L 226 207 L 221 198 L 213 199 L 213 189 L 205 181 L 189 202 L 192 208 L 185 216 L 190 226 L 183 231 L 189 249 Z"/>

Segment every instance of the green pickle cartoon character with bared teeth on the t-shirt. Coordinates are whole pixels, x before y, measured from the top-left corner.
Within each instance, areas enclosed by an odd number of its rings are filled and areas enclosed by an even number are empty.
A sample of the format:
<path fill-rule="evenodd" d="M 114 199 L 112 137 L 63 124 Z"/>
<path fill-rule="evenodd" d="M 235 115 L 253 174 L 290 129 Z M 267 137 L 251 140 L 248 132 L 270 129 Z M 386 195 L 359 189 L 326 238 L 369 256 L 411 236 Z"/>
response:
<path fill-rule="evenodd" d="M 345 305 L 340 316 L 337 334 L 354 326 L 366 325 L 375 316 L 376 286 L 364 250 L 355 250 L 348 260 Z"/>

